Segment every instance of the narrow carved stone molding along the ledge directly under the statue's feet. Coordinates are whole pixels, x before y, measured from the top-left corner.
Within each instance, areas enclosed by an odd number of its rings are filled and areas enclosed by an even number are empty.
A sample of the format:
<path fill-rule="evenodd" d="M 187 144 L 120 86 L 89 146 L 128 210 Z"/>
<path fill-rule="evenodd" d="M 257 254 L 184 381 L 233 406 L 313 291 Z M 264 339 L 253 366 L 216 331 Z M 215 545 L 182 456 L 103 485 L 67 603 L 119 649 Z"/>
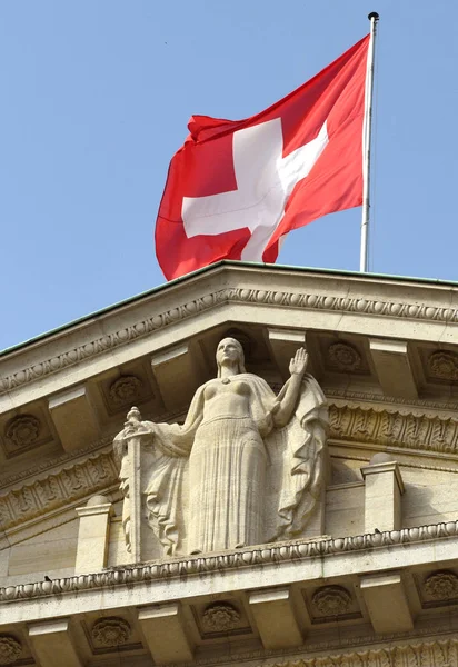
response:
<path fill-rule="evenodd" d="M 0 588 L 0 603 L 71 594 L 94 588 L 117 587 L 155 580 L 171 580 L 183 577 L 201 577 L 211 573 L 239 570 L 257 566 L 275 565 L 307 560 L 338 554 L 367 551 L 378 548 L 400 547 L 425 541 L 446 540 L 458 536 L 458 521 L 447 521 L 404 528 L 380 534 L 366 534 L 355 537 L 320 539 L 317 541 L 296 540 L 261 545 L 259 547 L 210 554 L 208 556 L 189 556 L 158 560 L 150 564 L 136 564 L 108 568 L 106 570 Z"/>

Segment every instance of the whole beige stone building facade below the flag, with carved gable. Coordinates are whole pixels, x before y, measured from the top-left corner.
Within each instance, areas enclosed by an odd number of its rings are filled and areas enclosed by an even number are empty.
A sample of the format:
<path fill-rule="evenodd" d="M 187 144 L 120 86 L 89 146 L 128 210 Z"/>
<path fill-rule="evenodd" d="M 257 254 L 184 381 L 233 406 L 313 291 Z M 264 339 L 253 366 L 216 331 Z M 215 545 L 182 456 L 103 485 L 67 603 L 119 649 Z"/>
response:
<path fill-rule="evenodd" d="M 222 262 L 7 350 L 0 665 L 457 667 L 457 409 L 439 281 Z"/>

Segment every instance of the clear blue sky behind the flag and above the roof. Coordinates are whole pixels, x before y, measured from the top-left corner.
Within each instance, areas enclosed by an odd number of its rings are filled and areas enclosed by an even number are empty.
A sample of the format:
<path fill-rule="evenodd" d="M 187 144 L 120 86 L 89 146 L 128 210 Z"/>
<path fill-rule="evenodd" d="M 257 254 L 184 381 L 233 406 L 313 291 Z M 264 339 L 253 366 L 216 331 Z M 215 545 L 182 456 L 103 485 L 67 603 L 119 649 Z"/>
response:
<path fill-rule="evenodd" d="M 458 40 L 450 0 L 0 2 L 0 349 L 165 281 L 153 223 L 191 113 L 243 118 L 369 30 L 370 269 L 458 280 Z M 360 209 L 281 263 L 357 270 Z"/>

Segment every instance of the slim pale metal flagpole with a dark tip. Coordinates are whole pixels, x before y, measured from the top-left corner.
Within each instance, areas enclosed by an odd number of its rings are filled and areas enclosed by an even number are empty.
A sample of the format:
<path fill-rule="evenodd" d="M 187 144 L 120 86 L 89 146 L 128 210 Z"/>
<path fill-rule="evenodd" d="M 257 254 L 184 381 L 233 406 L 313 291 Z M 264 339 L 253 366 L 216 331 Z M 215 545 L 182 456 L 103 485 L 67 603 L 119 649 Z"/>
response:
<path fill-rule="evenodd" d="M 372 131 L 372 97 L 374 97 L 374 53 L 379 16 L 376 11 L 368 16 L 370 21 L 369 51 L 367 54 L 365 118 L 362 122 L 362 217 L 361 217 L 361 251 L 359 270 L 367 272 L 369 212 L 370 212 L 370 140 Z"/>

